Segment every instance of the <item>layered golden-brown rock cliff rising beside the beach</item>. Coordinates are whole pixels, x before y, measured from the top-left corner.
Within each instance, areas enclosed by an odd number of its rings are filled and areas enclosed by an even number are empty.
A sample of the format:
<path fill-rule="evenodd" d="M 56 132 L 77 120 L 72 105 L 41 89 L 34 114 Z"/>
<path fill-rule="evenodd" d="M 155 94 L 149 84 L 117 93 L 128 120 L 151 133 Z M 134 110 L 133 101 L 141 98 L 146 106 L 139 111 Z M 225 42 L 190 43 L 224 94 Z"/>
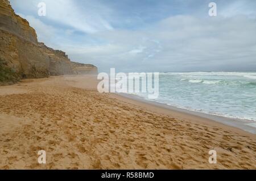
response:
<path fill-rule="evenodd" d="M 15 14 L 8 0 L 0 0 L 0 84 L 80 73 L 97 73 L 97 68 L 72 63 L 65 52 L 39 43 L 27 20 Z"/>

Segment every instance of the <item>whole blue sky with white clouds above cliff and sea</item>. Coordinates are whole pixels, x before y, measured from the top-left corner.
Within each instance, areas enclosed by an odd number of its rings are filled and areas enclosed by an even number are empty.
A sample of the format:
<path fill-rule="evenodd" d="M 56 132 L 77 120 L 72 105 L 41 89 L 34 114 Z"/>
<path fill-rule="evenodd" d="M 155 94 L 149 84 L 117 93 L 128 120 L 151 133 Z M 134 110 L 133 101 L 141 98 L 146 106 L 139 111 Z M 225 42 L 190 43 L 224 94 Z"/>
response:
<path fill-rule="evenodd" d="M 38 4 L 46 5 L 39 16 Z M 209 16 L 209 3 L 217 15 Z M 38 40 L 101 72 L 256 71 L 254 0 L 10 0 Z"/>

